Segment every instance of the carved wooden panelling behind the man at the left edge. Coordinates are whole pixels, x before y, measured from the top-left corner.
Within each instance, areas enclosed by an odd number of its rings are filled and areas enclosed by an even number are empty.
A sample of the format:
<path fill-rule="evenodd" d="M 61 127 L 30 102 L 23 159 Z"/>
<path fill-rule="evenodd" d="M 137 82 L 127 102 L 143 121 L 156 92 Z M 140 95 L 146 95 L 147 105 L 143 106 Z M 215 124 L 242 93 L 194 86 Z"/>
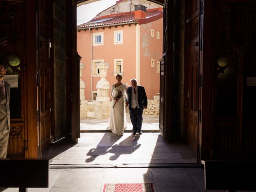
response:
<path fill-rule="evenodd" d="M 27 157 L 28 137 L 26 135 L 26 34 L 24 1 L 0 1 L 0 54 L 6 56 L 8 67 L 4 81 L 11 85 L 10 92 L 10 134 L 7 157 Z"/>

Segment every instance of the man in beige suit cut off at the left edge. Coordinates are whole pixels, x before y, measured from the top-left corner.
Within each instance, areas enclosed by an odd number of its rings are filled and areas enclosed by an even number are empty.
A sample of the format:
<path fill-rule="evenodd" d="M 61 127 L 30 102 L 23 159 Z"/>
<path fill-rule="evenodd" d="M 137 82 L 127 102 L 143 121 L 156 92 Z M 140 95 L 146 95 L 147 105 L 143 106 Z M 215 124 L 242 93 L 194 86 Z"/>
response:
<path fill-rule="evenodd" d="M 10 132 L 10 84 L 4 81 L 6 57 L 0 55 L 0 158 L 6 158 Z"/>

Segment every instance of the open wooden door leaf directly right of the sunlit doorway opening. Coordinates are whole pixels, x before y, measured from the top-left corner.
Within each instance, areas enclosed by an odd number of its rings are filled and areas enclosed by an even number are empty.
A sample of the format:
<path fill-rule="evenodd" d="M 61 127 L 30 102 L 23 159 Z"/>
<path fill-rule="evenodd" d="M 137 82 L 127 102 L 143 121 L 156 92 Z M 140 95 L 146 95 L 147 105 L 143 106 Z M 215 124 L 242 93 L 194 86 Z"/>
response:
<path fill-rule="evenodd" d="M 160 133 L 171 140 L 172 124 L 172 56 L 173 56 L 173 0 L 164 1 L 163 52 L 160 60 Z"/>

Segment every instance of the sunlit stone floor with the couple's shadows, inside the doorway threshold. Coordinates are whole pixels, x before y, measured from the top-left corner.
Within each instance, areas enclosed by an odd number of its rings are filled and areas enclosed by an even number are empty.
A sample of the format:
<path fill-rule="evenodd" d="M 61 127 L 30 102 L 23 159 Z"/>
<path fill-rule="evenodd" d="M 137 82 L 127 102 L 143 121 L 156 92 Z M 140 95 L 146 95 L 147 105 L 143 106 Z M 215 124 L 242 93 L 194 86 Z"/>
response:
<path fill-rule="evenodd" d="M 68 148 L 67 148 L 68 147 Z M 196 152 L 180 143 L 167 143 L 160 133 L 118 136 L 111 132 L 82 133 L 78 144 L 52 146 L 44 151 L 52 165 L 148 166 L 147 164 L 196 163 Z"/>

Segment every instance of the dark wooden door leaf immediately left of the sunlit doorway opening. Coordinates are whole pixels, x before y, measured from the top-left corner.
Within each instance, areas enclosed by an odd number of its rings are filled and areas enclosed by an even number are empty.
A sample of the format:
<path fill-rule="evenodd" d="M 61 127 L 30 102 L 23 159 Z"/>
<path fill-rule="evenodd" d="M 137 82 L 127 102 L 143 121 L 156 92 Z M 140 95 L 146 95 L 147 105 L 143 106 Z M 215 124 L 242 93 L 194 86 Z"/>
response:
<path fill-rule="evenodd" d="M 67 85 L 69 85 L 66 93 L 67 126 L 71 127 L 71 129 L 68 128 L 67 133 L 72 134 L 71 141 L 77 143 L 80 138 L 80 91 L 78 86 L 80 56 L 76 52 L 76 0 L 66 0 L 65 2 L 66 16 L 71 15 L 71 17 L 66 17 L 66 78 Z"/>

